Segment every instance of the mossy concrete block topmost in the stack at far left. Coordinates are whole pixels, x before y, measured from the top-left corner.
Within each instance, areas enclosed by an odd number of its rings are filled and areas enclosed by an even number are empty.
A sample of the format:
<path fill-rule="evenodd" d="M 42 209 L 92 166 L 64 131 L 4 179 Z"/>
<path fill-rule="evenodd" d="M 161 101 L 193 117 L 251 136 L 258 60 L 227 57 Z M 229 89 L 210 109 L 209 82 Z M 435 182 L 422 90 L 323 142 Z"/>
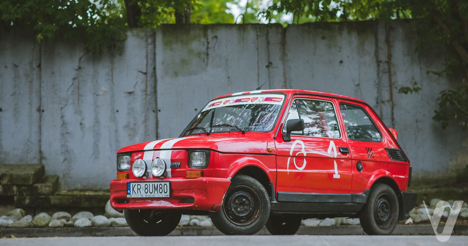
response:
<path fill-rule="evenodd" d="M 0 184 L 32 185 L 44 172 L 42 164 L 0 164 Z"/>

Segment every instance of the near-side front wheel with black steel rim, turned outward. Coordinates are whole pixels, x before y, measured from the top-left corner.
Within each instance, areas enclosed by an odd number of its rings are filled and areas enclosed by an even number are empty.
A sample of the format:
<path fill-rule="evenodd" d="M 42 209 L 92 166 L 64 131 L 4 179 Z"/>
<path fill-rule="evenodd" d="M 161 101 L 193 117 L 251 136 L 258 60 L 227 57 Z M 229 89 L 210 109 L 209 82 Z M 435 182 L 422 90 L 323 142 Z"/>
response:
<path fill-rule="evenodd" d="M 247 175 L 231 180 L 218 212 L 210 212 L 213 224 L 226 235 L 253 235 L 270 216 L 270 198 L 263 185 Z"/>

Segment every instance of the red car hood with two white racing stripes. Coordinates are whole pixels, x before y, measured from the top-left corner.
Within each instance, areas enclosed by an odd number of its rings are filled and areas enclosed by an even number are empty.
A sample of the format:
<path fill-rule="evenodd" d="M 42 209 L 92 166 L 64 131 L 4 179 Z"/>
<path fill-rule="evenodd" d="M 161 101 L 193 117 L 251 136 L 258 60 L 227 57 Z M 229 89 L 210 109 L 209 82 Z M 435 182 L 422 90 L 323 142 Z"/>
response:
<path fill-rule="evenodd" d="M 230 136 L 211 134 L 210 136 L 194 135 L 161 139 L 130 145 L 120 149 L 117 153 L 159 149 L 212 149 L 228 153 L 264 154 L 267 149 L 267 138 L 249 133 L 241 134 L 240 132 L 235 132 L 231 133 Z"/>

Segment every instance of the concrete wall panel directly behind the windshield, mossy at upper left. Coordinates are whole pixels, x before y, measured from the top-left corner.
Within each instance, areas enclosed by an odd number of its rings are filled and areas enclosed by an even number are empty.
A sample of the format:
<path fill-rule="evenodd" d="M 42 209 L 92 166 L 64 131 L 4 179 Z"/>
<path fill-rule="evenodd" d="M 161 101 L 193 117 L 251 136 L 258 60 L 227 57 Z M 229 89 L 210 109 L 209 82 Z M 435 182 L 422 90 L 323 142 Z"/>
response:
<path fill-rule="evenodd" d="M 254 24 L 157 29 L 158 138 L 178 137 L 213 97 L 255 90 L 265 82 L 263 89 L 281 87 L 281 29 Z"/>

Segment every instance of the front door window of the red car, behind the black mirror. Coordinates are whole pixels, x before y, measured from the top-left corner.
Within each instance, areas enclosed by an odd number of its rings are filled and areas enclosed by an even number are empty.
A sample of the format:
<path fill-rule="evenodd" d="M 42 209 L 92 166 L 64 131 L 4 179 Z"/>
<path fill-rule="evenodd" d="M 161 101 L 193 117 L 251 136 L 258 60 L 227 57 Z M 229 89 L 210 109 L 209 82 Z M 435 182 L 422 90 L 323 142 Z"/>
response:
<path fill-rule="evenodd" d="M 296 99 L 292 102 L 286 122 L 290 119 L 303 119 L 305 126 L 303 131 L 295 131 L 291 134 L 340 138 L 333 103 L 329 101 Z M 286 131 L 285 127 L 283 131 Z"/>

